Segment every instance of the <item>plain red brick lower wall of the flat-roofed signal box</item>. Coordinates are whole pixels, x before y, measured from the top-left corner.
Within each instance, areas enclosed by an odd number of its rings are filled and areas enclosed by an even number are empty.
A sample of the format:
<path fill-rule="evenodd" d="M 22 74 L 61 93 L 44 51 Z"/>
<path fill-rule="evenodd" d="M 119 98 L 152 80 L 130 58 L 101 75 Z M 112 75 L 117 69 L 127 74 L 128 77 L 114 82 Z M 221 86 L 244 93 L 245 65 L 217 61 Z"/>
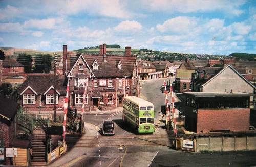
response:
<path fill-rule="evenodd" d="M 245 131 L 249 129 L 250 109 L 198 109 L 197 133 L 210 130 Z"/>

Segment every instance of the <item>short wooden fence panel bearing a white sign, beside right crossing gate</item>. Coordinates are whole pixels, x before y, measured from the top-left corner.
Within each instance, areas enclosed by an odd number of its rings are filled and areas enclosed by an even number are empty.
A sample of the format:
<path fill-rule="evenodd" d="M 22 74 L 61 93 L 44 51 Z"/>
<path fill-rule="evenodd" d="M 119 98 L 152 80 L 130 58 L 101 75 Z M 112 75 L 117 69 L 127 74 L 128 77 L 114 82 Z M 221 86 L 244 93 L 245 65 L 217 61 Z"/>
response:
<path fill-rule="evenodd" d="M 196 139 L 177 137 L 176 150 L 196 152 Z"/>

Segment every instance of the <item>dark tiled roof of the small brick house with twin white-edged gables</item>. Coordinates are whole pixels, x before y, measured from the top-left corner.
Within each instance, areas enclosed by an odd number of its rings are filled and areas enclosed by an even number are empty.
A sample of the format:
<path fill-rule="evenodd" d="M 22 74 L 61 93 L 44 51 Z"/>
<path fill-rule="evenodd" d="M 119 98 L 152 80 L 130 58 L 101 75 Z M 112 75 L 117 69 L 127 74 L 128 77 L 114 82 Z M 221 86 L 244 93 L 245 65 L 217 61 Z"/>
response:
<path fill-rule="evenodd" d="M 18 87 L 18 94 L 22 93 L 28 86 L 30 86 L 37 94 L 44 94 L 53 84 L 53 87 L 56 84 L 56 90 L 60 94 L 66 94 L 66 82 L 64 76 L 56 76 L 54 79 L 54 75 L 48 76 L 28 76 L 27 80 Z"/>

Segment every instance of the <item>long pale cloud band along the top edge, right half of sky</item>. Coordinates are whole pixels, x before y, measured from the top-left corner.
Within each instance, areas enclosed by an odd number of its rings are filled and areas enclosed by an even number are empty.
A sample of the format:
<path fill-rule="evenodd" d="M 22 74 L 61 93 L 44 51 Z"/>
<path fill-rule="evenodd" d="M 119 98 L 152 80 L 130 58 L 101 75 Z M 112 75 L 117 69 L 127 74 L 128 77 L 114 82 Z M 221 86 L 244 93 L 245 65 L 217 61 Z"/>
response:
<path fill-rule="evenodd" d="M 224 13 L 238 16 L 244 12 L 239 9 L 244 3 L 244 0 L 144 0 L 142 6 L 153 11 L 166 11 L 172 13 L 211 12 L 219 10 Z"/>

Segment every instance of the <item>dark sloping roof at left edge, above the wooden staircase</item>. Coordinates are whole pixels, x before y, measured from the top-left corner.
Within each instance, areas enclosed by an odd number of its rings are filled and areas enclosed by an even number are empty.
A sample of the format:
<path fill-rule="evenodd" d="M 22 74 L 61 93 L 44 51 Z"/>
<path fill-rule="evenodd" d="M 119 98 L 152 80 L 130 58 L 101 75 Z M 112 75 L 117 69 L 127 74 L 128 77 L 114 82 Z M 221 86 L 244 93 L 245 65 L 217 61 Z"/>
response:
<path fill-rule="evenodd" d="M 17 113 L 18 103 L 0 94 L 0 114 L 11 120 Z"/>

